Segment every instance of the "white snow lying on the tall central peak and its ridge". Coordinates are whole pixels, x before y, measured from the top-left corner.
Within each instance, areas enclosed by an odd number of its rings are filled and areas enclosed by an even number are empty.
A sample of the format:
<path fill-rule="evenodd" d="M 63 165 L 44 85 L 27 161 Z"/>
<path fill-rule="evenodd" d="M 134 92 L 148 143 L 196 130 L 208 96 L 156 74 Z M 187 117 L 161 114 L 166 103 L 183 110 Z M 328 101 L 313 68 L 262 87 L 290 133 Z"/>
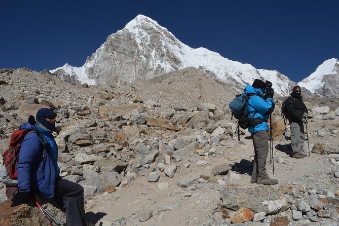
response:
<path fill-rule="evenodd" d="M 146 28 L 147 30 L 145 30 Z M 160 44 L 158 43 L 157 47 L 160 47 L 159 52 L 162 52 L 165 56 L 163 59 L 159 59 L 159 56 L 156 56 L 156 50 L 152 50 L 151 34 L 147 33 L 148 29 L 155 29 L 161 35 Z M 216 78 L 223 82 L 230 82 L 234 80 L 241 85 L 247 85 L 254 81 L 254 79 L 261 78 L 264 80 L 269 80 L 273 83 L 273 88 L 275 92 L 279 95 L 286 96 L 288 95 L 288 83 L 282 83 L 281 80 L 289 80 L 283 74 L 280 74 L 278 71 L 265 70 L 265 69 L 256 69 L 250 64 L 243 64 L 237 61 L 232 61 L 227 58 L 222 57 L 219 53 L 210 51 L 206 48 L 197 48 L 193 49 L 183 43 L 181 43 L 176 37 L 167 30 L 167 28 L 162 27 L 158 22 L 150 19 L 149 17 L 138 15 L 122 30 L 118 30 L 116 33 L 110 34 L 108 39 L 114 39 L 116 34 L 123 32 L 129 32 L 138 46 L 138 52 L 140 57 L 144 62 L 149 61 L 150 68 L 156 69 L 157 67 L 162 67 L 165 69 L 165 72 L 173 71 L 173 65 L 168 61 L 167 54 L 175 56 L 180 64 L 176 65 L 178 69 L 183 69 L 185 67 L 203 67 L 208 71 L 211 71 L 215 74 Z M 104 44 L 100 46 L 99 49 L 103 50 Z M 98 49 L 98 50 L 99 50 Z M 97 52 L 98 52 L 97 50 Z M 168 51 L 169 50 L 169 51 Z M 96 52 L 96 53 L 97 53 Z M 170 53 L 168 53 L 170 52 Z M 79 78 L 79 81 L 82 83 L 86 82 L 89 85 L 95 84 L 95 80 L 89 79 L 89 75 L 86 73 L 87 68 L 91 68 L 94 65 L 94 59 L 97 57 L 94 53 L 91 57 L 91 60 L 87 60 L 82 67 L 71 67 L 68 64 L 65 64 L 63 67 L 56 68 L 51 70 L 55 72 L 58 69 L 63 69 L 66 73 L 75 74 Z M 147 53 L 147 56 L 143 56 L 142 53 Z M 277 75 L 280 75 L 282 78 L 278 78 Z M 132 74 L 130 81 L 132 81 Z"/>

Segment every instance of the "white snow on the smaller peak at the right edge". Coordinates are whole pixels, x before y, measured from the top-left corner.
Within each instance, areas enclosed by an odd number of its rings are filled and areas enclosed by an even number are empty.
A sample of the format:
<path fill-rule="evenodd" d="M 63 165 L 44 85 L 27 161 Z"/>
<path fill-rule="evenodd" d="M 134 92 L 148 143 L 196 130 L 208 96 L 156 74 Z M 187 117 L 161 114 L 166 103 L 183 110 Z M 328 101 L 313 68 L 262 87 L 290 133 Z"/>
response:
<path fill-rule="evenodd" d="M 332 58 L 324 61 L 316 71 L 314 71 L 309 77 L 299 82 L 300 87 L 305 87 L 310 90 L 313 94 L 316 89 L 322 88 L 324 83 L 322 82 L 326 74 L 336 74 L 335 64 L 339 63 L 338 59 Z"/>

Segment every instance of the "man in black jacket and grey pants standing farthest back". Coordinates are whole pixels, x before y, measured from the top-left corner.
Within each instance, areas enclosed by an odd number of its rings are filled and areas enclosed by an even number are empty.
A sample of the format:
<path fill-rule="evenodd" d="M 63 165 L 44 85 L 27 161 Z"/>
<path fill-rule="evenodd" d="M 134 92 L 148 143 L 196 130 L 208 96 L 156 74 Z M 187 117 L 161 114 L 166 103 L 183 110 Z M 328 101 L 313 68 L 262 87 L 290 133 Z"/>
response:
<path fill-rule="evenodd" d="M 303 102 L 302 90 L 299 86 L 294 86 L 291 96 L 286 100 L 286 109 L 288 112 L 288 121 L 291 128 L 291 146 L 292 157 L 302 159 L 306 157 L 304 153 L 304 123 L 307 123 L 309 111 Z"/>

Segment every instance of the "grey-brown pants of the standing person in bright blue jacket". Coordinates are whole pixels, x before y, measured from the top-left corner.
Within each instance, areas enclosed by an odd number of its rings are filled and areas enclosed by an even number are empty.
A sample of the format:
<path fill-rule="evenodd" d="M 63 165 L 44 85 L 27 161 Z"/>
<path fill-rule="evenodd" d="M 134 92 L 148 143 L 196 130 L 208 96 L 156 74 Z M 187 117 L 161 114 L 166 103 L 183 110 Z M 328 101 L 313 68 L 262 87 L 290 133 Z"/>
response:
<path fill-rule="evenodd" d="M 251 181 L 261 181 L 268 179 L 266 173 L 266 160 L 269 155 L 269 140 L 266 130 L 252 133 L 254 147 L 254 163 Z"/>

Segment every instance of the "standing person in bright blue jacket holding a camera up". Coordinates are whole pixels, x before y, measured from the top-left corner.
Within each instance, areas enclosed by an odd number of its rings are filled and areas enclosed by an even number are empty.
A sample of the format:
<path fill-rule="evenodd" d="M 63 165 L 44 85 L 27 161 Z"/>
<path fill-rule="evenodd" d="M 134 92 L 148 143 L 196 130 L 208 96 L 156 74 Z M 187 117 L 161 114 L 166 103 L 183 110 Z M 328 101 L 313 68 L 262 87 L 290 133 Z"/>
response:
<path fill-rule="evenodd" d="M 247 85 L 244 92 L 249 96 L 248 111 L 250 126 L 248 132 L 252 134 L 254 146 L 254 163 L 251 175 L 251 183 L 257 184 L 277 184 L 278 180 L 271 179 L 266 173 L 266 160 L 269 154 L 267 124 L 272 114 L 275 103 L 273 100 L 274 90 L 269 81 L 254 80 L 252 86 Z"/>

